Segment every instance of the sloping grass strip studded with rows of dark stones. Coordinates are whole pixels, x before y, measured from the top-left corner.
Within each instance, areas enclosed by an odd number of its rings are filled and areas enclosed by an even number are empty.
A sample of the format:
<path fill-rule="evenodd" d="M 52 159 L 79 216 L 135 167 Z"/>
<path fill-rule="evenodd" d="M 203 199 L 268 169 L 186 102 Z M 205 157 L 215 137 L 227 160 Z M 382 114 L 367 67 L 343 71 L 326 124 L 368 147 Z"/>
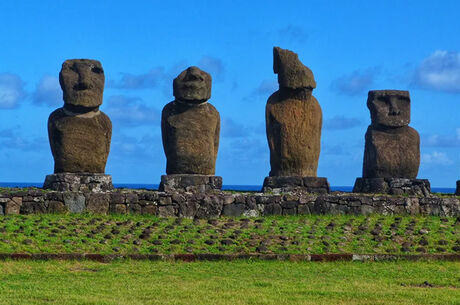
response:
<path fill-rule="evenodd" d="M 147 215 L 0 217 L 0 253 L 460 253 L 460 218 Z"/>

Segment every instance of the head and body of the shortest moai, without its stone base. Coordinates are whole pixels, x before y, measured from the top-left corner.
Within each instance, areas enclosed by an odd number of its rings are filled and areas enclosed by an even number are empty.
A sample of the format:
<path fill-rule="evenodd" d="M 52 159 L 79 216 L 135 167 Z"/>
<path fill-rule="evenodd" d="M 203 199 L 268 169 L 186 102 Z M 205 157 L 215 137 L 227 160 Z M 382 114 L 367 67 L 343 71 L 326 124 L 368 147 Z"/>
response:
<path fill-rule="evenodd" d="M 367 106 L 372 124 L 366 132 L 363 177 L 415 179 L 420 165 L 420 136 L 407 126 L 409 92 L 369 91 Z"/>

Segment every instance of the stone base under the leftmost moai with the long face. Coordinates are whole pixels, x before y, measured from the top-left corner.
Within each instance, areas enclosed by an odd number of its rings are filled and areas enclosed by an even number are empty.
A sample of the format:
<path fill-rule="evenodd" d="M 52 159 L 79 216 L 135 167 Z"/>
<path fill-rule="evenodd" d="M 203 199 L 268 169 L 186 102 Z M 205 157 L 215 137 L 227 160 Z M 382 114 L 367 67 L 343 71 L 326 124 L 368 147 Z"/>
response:
<path fill-rule="evenodd" d="M 71 192 L 107 192 L 113 189 L 112 176 L 95 173 L 57 173 L 47 175 L 44 189 Z"/>

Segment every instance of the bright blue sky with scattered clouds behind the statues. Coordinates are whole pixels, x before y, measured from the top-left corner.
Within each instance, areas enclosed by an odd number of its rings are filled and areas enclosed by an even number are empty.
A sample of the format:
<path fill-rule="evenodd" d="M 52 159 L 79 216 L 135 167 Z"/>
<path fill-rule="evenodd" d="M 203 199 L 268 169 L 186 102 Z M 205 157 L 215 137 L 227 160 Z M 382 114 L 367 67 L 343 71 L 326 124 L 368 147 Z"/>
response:
<path fill-rule="evenodd" d="M 460 179 L 458 1 L 1 1 L 0 181 L 53 171 L 46 122 L 62 106 L 57 77 L 71 58 L 101 61 L 101 109 L 113 122 L 106 173 L 158 183 L 166 160 L 160 113 L 190 65 L 213 77 L 221 115 L 216 174 L 261 184 L 269 172 L 264 111 L 277 89 L 272 48 L 313 71 L 323 111 L 318 175 L 361 176 L 367 91 L 409 90 L 421 136 L 419 178 Z"/>

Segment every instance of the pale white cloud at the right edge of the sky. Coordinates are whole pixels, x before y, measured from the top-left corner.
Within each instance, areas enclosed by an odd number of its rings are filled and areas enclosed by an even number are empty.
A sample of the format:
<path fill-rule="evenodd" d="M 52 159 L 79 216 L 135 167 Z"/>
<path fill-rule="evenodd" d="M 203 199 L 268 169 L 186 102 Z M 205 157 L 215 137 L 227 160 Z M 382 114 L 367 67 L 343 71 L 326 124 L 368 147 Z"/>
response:
<path fill-rule="evenodd" d="M 460 52 L 435 51 L 416 68 L 413 83 L 424 89 L 460 93 Z"/>

